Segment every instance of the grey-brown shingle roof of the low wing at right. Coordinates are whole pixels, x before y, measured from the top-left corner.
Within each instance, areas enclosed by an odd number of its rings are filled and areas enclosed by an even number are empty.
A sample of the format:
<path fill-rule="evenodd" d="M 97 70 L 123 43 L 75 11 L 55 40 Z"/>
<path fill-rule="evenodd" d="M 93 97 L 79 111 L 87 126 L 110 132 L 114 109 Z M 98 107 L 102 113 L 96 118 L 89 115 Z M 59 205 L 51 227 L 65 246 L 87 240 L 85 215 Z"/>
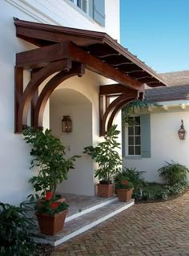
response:
<path fill-rule="evenodd" d="M 145 99 L 151 101 L 189 100 L 189 71 L 160 74 L 168 87 L 147 89 Z"/>

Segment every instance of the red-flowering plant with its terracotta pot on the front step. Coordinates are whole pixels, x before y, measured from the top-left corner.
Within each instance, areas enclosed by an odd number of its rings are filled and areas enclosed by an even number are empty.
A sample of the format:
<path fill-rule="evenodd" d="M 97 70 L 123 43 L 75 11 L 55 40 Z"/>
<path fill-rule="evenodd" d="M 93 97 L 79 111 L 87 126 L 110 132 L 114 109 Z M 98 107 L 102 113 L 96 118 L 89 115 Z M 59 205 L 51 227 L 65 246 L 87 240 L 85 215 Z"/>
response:
<path fill-rule="evenodd" d="M 68 206 L 65 202 L 57 201 L 50 191 L 46 192 L 43 203 L 35 206 L 42 234 L 54 235 L 63 229 Z"/>

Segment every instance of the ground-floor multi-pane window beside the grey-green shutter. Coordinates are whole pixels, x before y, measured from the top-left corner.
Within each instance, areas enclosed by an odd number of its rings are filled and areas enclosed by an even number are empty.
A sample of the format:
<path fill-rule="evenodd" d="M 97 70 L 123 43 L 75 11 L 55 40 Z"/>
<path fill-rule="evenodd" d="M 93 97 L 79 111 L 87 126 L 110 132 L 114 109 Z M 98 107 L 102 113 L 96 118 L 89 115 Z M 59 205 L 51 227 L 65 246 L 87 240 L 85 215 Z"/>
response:
<path fill-rule="evenodd" d="M 141 155 L 141 129 L 140 116 L 130 117 L 130 124 L 128 125 L 128 155 Z"/>

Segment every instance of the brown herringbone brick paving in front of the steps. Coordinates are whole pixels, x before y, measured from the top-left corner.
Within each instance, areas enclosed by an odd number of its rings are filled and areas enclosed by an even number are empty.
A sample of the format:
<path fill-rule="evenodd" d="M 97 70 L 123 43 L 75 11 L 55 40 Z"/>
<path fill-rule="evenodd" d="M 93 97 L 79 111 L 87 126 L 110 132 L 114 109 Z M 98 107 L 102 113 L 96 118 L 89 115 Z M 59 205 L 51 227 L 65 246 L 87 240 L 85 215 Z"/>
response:
<path fill-rule="evenodd" d="M 189 192 L 141 204 L 56 247 L 51 256 L 189 256 Z"/>

